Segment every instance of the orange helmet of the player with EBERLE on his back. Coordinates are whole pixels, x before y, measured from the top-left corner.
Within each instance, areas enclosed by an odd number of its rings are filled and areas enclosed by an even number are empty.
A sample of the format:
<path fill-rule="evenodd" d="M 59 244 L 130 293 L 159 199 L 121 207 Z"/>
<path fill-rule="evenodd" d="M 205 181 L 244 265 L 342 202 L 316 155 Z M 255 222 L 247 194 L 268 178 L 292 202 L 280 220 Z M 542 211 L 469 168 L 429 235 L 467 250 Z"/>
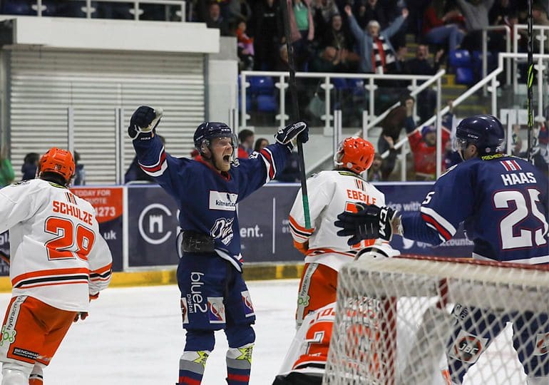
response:
<path fill-rule="evenodd" d="M 339 168 L 347 168 L 357 174 L 368 170 L 374 161 L 374 145 L 368 140 L 352 136 L 339 143 L 334 164 Z"/>

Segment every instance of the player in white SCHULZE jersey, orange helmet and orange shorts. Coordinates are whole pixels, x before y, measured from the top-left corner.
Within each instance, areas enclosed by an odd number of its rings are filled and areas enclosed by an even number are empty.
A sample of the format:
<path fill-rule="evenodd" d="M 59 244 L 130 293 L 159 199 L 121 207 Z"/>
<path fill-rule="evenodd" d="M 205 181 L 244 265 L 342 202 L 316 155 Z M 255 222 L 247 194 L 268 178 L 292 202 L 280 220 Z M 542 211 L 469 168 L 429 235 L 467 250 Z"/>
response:
<path fill-rule="evenodd" d="M 96 211 L 68 190 L 74 170 L 71 153 L 51 148 L 39 179 L 0 190 L 13 287 L 1 329 L 1 385 L 43 384 L 43 367 L 69 327 L 87 317 L 90 299 L 111 281 L 111 251 Z"/>

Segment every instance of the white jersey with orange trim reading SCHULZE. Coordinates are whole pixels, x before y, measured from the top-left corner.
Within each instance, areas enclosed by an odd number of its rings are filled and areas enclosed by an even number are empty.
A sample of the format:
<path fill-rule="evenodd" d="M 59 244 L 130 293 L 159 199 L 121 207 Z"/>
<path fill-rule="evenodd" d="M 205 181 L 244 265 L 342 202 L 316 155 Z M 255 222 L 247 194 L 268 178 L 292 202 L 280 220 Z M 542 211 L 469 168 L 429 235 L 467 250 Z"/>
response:
<path fill-rule="evenodd" d="M 0 233 L 6 230 L 14 297 L 86 312 L 90 295 L 111 281 L 111 250 L 96 210 L 61 185 L 34 179 L 1 189 Z"/>

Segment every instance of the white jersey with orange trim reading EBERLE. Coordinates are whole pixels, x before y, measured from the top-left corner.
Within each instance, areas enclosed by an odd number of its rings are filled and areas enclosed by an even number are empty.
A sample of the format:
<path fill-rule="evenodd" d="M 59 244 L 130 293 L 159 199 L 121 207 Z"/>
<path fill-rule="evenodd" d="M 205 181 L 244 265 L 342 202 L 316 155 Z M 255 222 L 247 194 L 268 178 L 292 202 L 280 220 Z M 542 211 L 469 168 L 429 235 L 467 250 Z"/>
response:
<path fill-rule="evenodd" d="M 289 212 L 289 226 L 294 242 L 309 242 L 306 263 L 317 262 L 339 271 L 344 263 L 354 258 L 356 252 L 374 244 L 374 240 L 363 240 L 349 247 L 347 237 L 337 235 L 340 230 L 334 226 L 337 215 L 343 211 L 356 212 L 356 203 L 383 206 L 385 195 L 360 175 L 348 170 L 321 171 L 313 175 L 307 179 L 307 192 L 312 229 L 305 228 L 302 194 L 299 190 Z"/>

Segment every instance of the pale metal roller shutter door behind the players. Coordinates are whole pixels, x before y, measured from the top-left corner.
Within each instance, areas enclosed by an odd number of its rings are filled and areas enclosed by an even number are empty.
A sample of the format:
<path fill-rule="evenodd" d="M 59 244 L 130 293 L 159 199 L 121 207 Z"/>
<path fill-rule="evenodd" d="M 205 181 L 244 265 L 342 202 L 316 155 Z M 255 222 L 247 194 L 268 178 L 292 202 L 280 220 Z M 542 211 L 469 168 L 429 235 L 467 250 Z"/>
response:
<path fill-rule="evenodd" d="M 115 108 L 124 124 L 140 105 L 160 106 L 166 149 L 188 156 L 205 116 L 204 55 L 63 51 L 13 48 L 9 52 L 11 160 L 16 180 L 26 153 L 66 148 L 67 108 L 74 113 L 74 148 L 87 184 L 115 183 Z M 124 142 L 124 170 L 135 153 Z"/>

